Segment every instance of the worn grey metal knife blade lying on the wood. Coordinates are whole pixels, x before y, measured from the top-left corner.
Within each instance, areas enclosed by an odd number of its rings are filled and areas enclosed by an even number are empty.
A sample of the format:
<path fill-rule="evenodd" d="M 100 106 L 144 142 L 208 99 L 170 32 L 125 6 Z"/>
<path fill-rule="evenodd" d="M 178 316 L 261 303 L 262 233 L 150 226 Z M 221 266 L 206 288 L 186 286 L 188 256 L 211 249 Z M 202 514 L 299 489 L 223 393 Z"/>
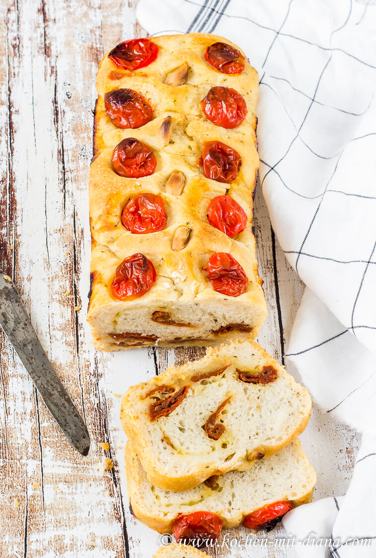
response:
<path fill-rule="evenodd" d="M 0 326 L 65 436 L 81 455 L 88 455 L 88 430 L 46 357 L 15 284 L 10 277 L 2 273 Z"/>

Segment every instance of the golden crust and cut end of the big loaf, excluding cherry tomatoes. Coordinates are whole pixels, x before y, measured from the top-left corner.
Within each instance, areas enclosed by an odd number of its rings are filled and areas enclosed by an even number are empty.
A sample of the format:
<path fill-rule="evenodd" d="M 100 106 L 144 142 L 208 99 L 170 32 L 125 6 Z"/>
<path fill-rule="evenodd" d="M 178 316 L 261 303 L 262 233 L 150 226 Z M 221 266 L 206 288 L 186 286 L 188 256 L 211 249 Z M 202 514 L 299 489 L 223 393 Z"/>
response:
<path fill-rule="evenodd" d="M 88 320 L 95 345 L 104 350 L 141 345 L 210 345 L 254 338 L 267 315 L 258 276 L 252 230 L 253 192 L 258 170 L 255 113 L 258 78 L 244 53 L 242 73 L 227 74 L 210 65 L 210 45 L 230 41 L 191 33 L 155 37 L 156 59 L 133 71 L 105 55 L 98 71 L 94 119 L 94 158 L 90 166 L 90 223 L 93 238 Z M 235 89 L 248 113 L 234 128 L 206 118 L 200 102 L 213 87 Z M 152 119 L 138 128 L 118 128 L 107 116 L 105 93 L 132 89 L 152 108 Z M 149 176 L 119 176 L 114 148 L 125 138 L 146 144 L 155 156 Z M 242 159 L 229 183 L 205 176 L 205 143 L 219 141 Z M 172 178 L 171 178 L 172 177 Z M 122 210 L 138 194 L 161 196 L 167 222 L 162 230 L 134 234 L 122 224 Z M 216 196 L 228 195 L 246 215 L 245 229 L 230 238 L 209 223 L 206 211 Z M 230 254 L 247 276 L 239 296 L 214 290 L 206 268 L 215 253 Z M 151 288 L 133 300 L 112 291 L 118 266 L 143 254 L 155 268 Z"/>

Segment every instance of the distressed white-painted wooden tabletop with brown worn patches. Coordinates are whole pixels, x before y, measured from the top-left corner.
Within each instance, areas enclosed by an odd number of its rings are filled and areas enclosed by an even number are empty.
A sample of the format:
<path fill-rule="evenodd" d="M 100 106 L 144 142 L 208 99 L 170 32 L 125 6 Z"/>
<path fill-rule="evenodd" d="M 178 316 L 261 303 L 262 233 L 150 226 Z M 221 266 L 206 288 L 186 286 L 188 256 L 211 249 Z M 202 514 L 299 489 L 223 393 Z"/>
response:
<path fill-rule="evenodd" d="M 5 22 L 0 26 L 0 270 L 15 280 L 91 437 L 89 456 L 81 458 L 51 419 L 0 331 L 1 558 L 146 558 L 158 547 L 158 535 L 128 511 L 118 395 L 203 350 L 102 354 L 91 345 L 85 322 L 94 79 L 106 50 L 143 35 L 135 21 L 135 4 L 0 3 Z M 282 360 L 303 286 L 278 247 L 260 190 L 255 224 L 269 307 L 258 340 Z M 301 439 L 318 474 L 314 497 L 343 494 L 358 437 L 314 406 Z M 109 451 L 99 442 L 108 442 Z M 95 466 L 104 456 L 113 459 L 114 468 L 103 477 Z M 282 533 L 279 528 L 269 539 Z M 233 549 L 230 554 L 245 557 L 250 551 Z M 275 550 L 271 542 L 251 554 L 279 557 L 293 556 L 294 551 Z M 219 548 L 217 555 L 229 551 Z"/>

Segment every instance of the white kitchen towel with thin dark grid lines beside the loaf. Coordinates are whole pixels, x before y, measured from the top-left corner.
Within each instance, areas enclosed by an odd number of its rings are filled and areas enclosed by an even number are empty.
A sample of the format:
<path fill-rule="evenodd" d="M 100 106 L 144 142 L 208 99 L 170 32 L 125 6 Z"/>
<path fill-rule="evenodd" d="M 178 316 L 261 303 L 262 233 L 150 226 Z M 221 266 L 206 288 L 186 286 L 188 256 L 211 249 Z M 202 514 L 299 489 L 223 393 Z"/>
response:
<path fill-rule="evenodd" d="M 286 356 L 323 412 L 364 432 L 343 501 L 284 523 L 297 538 L 329 533 L 301 556 L 374 558 L 376 0 L 141 0 L 137 16 L 152 36 L 228 37 L 258 70 L 263 194 L 307 285 Z"/>

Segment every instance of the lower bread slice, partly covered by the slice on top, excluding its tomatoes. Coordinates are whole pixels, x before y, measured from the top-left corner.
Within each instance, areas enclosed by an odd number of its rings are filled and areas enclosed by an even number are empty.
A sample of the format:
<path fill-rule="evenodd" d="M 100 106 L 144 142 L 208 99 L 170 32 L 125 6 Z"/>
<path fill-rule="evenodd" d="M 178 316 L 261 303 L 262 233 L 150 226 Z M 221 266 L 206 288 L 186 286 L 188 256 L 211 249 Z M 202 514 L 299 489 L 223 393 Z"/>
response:
<path fill-rule="evenodd" d="M 248 471 L 220 475 L 212 488 L 205 483 L 185 492 L 170 492 L 151 484 L 130 442 L 126 446 L 129 501 L 134 516 L 161 533 L 171 532 L 181 514 L 216 513 L 223 527 L 238 527 L 243 518 L 266 504 L 288 501 L 292 506 L 310 502 L 315 470 L 300 442 L 293 441 Z"/>

